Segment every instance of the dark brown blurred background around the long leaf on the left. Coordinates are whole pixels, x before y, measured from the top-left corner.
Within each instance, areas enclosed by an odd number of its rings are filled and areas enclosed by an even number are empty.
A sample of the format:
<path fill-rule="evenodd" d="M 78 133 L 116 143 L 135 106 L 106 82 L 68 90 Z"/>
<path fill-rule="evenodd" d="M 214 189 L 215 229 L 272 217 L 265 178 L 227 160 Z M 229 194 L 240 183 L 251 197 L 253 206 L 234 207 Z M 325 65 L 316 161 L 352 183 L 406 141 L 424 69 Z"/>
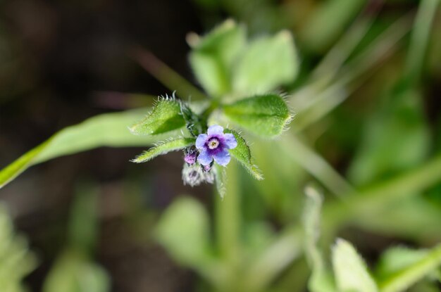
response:
<path fill-rule="evenodd" d="M 201 32 L 200 12 L 182 0 L 2 1 L 1 167 L 64 127 L 149 105 L 148 99 L 130 104 L 119 93 L 169 92 L 130 58 L 132 46 L 149 49 L 191 80 L 185 35 Z M 133 167 L 128 160 L 139 151 L 100 148 L 60 158 L 32 167 L 2 189 L 1 200 L 42 260 L 28 279 L 32 291 L 39 291 L 66 241 L 77 180 L 91 177 L 101 201 L 98 258 L 111 274 L 113 291 L 192 291 L 191 273 L 175 267 L 156 246 L 136 243 L 124 222 L 127 177 L 146 182 L 141 193 L 149 208 L 164 208 L 183 191 L 179 163 L 163 167 L 166 158 L 160 158 Z"/>

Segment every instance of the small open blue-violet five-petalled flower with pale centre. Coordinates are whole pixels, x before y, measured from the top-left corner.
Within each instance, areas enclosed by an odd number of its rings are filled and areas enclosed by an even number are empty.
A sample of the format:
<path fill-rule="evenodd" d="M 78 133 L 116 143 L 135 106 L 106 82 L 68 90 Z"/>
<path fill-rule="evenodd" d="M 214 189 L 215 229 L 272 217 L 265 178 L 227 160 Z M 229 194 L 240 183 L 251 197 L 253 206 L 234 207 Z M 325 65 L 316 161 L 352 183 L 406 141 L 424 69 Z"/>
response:
<path fill-rule="evenodd" d="M 236 146 L 237 141 L 233 134 L 223 134 L 223 127 L 213 125 L 209 127 L 207 134 L 199 134 L 196 139 L 196 148 L 199 150 L 197 161 L 206 166 L 214 159 L 218 165 L 228 165 L 231 159 L 228 149 Z"/>

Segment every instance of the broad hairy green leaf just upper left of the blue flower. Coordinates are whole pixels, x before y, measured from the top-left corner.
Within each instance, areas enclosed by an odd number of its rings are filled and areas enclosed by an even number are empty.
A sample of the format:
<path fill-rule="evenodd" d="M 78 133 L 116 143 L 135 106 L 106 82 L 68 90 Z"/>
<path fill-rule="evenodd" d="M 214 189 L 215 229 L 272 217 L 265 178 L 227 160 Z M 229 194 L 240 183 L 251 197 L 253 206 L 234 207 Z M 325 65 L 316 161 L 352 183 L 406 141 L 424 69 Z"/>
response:
<path fill-rule="evenodd" d="M 151 113 L 130 127 L 130 132 L 138 135 L 157 135 L 180 129 L 185 126 L 181 104 L 174 97 L 161 98 Z"/>

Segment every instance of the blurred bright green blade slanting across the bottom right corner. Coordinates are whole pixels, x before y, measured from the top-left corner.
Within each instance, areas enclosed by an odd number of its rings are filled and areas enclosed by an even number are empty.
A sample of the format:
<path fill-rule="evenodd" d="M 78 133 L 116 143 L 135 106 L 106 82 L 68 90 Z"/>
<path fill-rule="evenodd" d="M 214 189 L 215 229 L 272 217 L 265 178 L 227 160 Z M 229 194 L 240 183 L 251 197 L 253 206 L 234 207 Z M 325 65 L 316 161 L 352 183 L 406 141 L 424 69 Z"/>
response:
<path fill-rule="evenodd" d="M 411 265 L 400 269 L 380 283 L 380 292 L 405 291 L 424 277 L 436 272 L 441 266 L 441 245 L 429 250 L 426 255 Z"/>

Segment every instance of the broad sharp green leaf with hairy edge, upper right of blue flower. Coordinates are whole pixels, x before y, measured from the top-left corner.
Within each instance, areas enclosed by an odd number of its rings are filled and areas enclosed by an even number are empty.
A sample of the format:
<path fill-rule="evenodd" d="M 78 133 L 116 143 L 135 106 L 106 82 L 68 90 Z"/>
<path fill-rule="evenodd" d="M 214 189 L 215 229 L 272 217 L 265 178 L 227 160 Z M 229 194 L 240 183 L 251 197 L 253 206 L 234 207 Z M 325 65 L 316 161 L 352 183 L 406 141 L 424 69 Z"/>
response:
<path fill-rule="evenodd" d="M 252 96 L 225 105 L 226 117 L 261 137 L 278 136 L 292 119 L 283 98 L 277 94 Z"/>

